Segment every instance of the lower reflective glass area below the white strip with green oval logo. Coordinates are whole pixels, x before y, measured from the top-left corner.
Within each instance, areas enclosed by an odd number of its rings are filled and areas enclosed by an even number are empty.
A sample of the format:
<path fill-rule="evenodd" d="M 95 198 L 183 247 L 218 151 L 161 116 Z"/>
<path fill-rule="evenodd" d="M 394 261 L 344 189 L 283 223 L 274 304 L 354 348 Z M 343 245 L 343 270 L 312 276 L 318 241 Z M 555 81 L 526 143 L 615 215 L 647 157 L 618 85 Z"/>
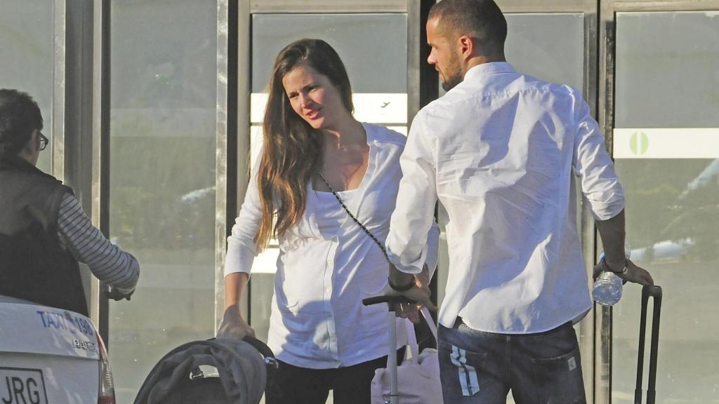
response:
<path fill-rule="evenodd" d="M 617 160 L 632 258 L 664 290 L 658 403 L 708 403 L 719 382 L 719 159 Z M 633 403 L 641 288 L 625 288 L 613 316 L 613 402 Z"/>

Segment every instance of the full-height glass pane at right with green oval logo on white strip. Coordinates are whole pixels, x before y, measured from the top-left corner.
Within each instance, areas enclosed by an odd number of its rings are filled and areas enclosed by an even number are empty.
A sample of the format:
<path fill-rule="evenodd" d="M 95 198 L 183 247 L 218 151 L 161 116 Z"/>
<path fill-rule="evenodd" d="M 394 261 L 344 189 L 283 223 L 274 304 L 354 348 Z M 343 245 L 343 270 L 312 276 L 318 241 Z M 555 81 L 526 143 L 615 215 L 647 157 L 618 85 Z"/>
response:
<path fill-rule="evenodd" d="M 664 290 L 657 403 L 710 403 L 719 388 L 719 12 L 620 13 L 616 39 L 627 240 Z M 613 403 L 633 403 L 640 303 L 641 288 L 629 285 L 614 309 Z"/>

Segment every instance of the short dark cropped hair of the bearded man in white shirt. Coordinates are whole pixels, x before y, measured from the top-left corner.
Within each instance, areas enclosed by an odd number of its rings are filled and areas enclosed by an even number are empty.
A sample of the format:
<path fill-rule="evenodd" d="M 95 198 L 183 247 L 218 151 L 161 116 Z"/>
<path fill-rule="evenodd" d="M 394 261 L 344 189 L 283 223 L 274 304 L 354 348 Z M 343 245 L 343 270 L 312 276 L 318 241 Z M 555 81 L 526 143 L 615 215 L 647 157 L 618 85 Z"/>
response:
<path fill-rule="evenodd" d="M 429 10 L 429 19 L 439 17 L 439 30 L 454 40 L 470 35 L 479 40 L 482 55 L 504 55 L 507 20 L 493 0 L 441 0 Z"/>

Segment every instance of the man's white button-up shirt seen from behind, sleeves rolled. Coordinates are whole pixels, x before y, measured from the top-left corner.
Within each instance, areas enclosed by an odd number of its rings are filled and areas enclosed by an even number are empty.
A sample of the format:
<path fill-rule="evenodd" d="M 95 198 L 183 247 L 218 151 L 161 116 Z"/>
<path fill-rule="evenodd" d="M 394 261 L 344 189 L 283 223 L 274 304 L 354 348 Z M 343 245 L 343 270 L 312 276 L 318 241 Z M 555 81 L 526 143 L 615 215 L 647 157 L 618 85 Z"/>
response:
<path fill-rule="evenodd" d="M 508 63 L 475 66 L 417 114 L 400 165 L 390 260 L 419 272 L 438 198 L 449 216 L 440 323 L 526 334 L 590 309 L 575 175 L 596 219 L 619 214 L 624 197 L 578 91 Z"/>

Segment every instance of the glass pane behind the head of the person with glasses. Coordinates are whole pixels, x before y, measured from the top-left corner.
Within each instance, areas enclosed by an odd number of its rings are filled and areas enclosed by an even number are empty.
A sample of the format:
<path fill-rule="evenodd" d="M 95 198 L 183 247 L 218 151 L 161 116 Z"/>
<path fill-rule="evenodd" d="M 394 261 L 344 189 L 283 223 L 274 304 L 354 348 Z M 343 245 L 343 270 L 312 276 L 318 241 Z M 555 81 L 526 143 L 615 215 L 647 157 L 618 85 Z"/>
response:
<path fill-rule="evenodd" d="M 0 88 L 16 88 L 37 101 L 45 121 L 42 133 L 50 144 L 40 153 L 37 167 L 51 173 L 52 161 L 52 2 L 4 0 L 0 12 Z M 29 29 L 32 27 L 32 29 Z"/>

